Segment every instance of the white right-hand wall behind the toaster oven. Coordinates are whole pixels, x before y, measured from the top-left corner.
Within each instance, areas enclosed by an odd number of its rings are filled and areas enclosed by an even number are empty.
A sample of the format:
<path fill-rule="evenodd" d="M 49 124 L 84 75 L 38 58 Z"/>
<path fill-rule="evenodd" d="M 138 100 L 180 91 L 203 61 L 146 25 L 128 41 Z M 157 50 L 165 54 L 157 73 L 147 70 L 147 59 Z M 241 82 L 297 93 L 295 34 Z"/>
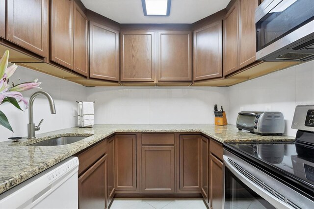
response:
<path fill-rule="evenodd" d="M 244 111 L 271 111 L 284 114 L 287 135 L 291 129 L 296 105 L 314 104 L 314 61 L 306 62 L 260 78 L 229 87 L 229 123 L 235 124 L 237 113 Z"/>

